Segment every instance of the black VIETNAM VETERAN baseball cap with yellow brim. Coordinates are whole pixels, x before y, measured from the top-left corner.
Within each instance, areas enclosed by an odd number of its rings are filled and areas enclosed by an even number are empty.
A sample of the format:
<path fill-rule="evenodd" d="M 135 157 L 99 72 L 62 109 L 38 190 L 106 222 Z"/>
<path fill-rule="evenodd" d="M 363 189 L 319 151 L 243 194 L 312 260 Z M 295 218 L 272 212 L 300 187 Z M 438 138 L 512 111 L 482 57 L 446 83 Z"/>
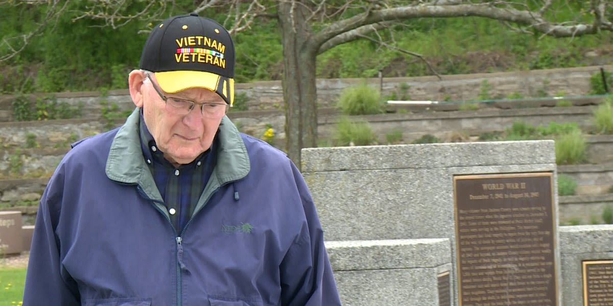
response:
<path fill-rule="evenodd" d="M 151 30 L 139 66 L 153 72 L 169 94 L 206 88 L 232 106 L 234 64 L 229 32 L 215 20 L 191 13 L 170 17 Z"/>

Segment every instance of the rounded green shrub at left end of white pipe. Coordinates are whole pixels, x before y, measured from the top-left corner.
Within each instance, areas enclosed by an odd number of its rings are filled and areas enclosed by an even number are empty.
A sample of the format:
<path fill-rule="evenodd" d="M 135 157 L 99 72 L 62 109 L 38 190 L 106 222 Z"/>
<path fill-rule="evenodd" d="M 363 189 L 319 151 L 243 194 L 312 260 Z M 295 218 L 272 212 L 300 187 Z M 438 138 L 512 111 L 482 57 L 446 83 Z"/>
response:
<path fill-rule="evenodd" d="M 357 87 L 344 89 L 338 106 L 347 115 L 381 114 L 384 110 L 379 91 L 365 81 Z"/>

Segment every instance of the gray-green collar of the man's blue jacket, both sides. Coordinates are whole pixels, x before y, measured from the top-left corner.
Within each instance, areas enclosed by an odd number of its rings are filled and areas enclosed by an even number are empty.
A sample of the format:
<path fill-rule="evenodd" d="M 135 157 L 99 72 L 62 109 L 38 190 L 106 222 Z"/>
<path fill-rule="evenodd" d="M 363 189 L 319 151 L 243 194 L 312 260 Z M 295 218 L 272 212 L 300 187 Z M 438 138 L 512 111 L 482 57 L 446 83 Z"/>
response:
<path fill-rule="evenodd" d="M 219 186 L 242 179 L 251 167 L 243 138 L 232 121 L 224 117 L 219 125 L 217 164 L 203 195 Z M 139 108 L 136 108 L 120 127 L 111 144 L 106 174 L 109 179 L 123 184 L 138 184 L 151 199 L 162 201 L 153 176 L 143 159 L 139 136 Z M 204 202 L 207 197 L 200 198 Z"/>

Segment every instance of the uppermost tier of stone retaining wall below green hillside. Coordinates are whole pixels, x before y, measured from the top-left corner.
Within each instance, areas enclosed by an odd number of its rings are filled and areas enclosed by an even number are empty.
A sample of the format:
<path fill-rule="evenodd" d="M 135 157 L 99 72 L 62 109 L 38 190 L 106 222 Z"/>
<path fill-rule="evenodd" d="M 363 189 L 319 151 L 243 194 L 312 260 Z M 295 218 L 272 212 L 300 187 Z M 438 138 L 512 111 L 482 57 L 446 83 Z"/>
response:
<path fill-rule="evenodd" d="M 576 67 L 566 69 L 528 70 L 522 72 L 476 73 L 470 75 L 417 76 L 405 78 L 343 78 L 318 79 L 317 103 L 319 107 L 335 106 L 343 89 L 357 86 L 366 80 L 378 88 L 383 97 L 395 92 L 397 97 L 406 95 L 410 100 L 469 101 L 476 100 L 485 81 L 489 95 L 504 98 L 509 94 L 524 97 L 567 97 L 587 95 L 590 92 L 590 76 L 603 68 L 613 70 L 613 65 Z M 403 92 L 402 88 L 406 89 Z M 281 81 L 257 81 L 235 85 L 237 95 L 246 96 L 249 110 L 283 110 Z M 48 94 L 37 94 L 44 97 Z M 105 105 L 116 103 L 119 110 L 134 108 L 127 89 L 105 92 L 58 92 L 53 94 L 59 101 L 72 105 L 83 104 L 84 118 L 99 118 Z M 15 95 L 0 95 L 0 121 L 11 121 L 11 103 Z"/>

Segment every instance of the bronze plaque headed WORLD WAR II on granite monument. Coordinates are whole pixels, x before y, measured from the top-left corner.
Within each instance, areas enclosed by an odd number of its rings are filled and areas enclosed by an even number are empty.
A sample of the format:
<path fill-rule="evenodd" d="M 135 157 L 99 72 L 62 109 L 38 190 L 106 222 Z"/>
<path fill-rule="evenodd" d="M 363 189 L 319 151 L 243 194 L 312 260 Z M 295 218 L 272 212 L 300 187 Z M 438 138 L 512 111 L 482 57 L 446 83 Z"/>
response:
<path fill-rule="evenodd" d="M 558 305 L 552 173 L 454 176 L 460 306 Z"/>

